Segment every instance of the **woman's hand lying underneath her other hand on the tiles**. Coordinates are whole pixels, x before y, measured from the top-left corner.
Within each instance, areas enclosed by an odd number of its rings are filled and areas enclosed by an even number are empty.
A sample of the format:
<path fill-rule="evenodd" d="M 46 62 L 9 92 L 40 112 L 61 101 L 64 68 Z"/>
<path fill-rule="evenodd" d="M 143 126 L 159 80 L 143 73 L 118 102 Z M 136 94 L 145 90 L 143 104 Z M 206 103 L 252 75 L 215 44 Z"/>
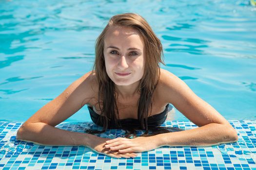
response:
<path fill-rule="evenodd" d="M 102 153 L 102 154 L 105 154 L 105 155 L 108 155 L 111 157 L 115 157 L 115 158 L 121 158 L 121 157 L 135 158 L 137 156 L 136 153 L 119 153 L 118 151 L 111 151 L 110 148 L 105 147 L 107 140 L 111 140 L 111 138 L 103 138 L 103 137 L 94 136 L 90 140 L 88 147 L 98 153 Z"/>

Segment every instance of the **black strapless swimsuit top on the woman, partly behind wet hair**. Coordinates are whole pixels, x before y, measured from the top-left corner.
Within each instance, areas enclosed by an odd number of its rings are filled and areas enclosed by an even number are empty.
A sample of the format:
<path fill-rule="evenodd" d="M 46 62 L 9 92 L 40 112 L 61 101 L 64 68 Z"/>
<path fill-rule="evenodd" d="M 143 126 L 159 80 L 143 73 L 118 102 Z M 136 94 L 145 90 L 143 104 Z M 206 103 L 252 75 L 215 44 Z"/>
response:
<path fill-rule="evenodd" d="M 172 109 L 171 105 L 170 107 L 171 108 L 169 108 L 169 104 L 167 104 L 163 112 L 148 117 L 148 127 L 156 127 L 161 125 L 166 120 L 168 111 Z M 90 106 L 88 106 L 88 110 L 93 122 L 99 126 L 103 126 L 103 124 L 99 121 L 99 118 L 102 116 L 98 115 Z M 138 119 L 119 119 L 118 122 L 120 123 L 121 127 L 140 127 Z M 118 124 L 115 124 L 115 121 L 109 121 L 109 123 L 109 129 L 120 128 Z"/>

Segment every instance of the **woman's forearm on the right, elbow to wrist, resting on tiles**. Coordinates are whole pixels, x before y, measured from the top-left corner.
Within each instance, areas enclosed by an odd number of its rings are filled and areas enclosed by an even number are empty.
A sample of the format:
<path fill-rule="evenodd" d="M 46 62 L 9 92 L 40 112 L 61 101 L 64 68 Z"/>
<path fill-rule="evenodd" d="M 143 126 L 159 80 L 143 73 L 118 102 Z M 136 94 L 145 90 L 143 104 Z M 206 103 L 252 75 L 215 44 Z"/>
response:
<path fill-rule="evenodd" d="M 231 125 L 210 123 L 195 129 L 156 135 L 161 146 L 212 146 L 237 141 Z"/>

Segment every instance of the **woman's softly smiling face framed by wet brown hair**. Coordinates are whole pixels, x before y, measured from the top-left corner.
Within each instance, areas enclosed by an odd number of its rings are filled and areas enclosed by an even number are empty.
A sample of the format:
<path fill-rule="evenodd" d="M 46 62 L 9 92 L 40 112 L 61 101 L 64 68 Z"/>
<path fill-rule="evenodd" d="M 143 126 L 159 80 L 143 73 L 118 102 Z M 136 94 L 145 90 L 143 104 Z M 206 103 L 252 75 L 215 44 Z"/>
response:
<path fill-rule="evenodd" d="M 144 74 L 144 41 L 131 27 L 110 27 L 104 39 L 106 71 L 116 85 L 131 85 Z"/>

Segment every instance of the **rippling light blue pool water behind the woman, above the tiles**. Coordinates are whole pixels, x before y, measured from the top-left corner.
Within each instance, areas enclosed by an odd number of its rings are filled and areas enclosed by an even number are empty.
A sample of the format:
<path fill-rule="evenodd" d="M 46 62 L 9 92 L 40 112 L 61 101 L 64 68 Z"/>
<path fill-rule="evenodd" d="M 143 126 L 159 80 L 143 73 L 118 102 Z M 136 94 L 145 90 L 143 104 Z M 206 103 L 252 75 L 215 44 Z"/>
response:
<path fill-rule="evenodd" d="M 0 120 L 25 121 L 91 70 L 109 17 L 135 12 L 167 69 L 226 119 L 256 119 L 256 7 L 249 0 L 0 1 Z M 176 110 L 176 120 L 187 120 Z M 86 107 L 66 121 L 91 121 Z"/>

